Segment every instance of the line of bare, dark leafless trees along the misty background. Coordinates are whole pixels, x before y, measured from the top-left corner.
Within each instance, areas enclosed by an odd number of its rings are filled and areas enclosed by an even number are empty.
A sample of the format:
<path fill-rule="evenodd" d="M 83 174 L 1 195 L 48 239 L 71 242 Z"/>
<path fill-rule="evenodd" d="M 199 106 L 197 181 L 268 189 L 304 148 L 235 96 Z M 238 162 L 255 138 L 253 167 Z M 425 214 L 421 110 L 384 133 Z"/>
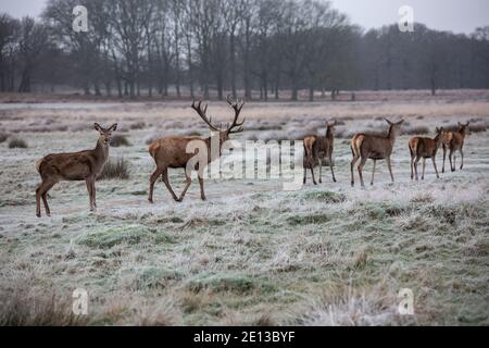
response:
<path fill-rule="evenodd" d="M 49 0 L 0 14 L 0 90 L 118 97 L 309 99 L 339 90 L 489 88 L 489 26 L 471 35 L 397 24 L 364 32 L 321 0 Z M 60 87 L 62 86 L 62 87 Z"/>

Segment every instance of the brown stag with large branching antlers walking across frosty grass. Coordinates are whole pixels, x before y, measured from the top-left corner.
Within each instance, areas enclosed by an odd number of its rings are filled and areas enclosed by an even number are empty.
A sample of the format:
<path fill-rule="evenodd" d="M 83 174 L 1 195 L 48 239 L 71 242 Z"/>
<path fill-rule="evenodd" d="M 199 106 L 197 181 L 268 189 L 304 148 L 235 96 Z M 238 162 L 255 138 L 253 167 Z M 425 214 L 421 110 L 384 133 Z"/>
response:
<path fill-rule="evenodd" d="M 231 125 L 225 129 L 216 127 L 215 125 L 212 124 L 211 119 L 210 117 L 208 119 L 206 116 L 208 105 L 202 108 L 202 101 L 199 101 L 198 103 L 196 103 L 196 101 L 192 102 L 192 109 L 199 114 L 202 121 L 206 123 L 206 125 L 211 130 L 218 133 L 220 156 L 222 146 L 225 141 L 229 139 L 229 135 L 240 133 L 243 130 L 242 125 L 244 123 L 244 120 L 238 122 L 238 117 L 242 107 L 244 105 L 244 102 L 242 100 L 231 100 L 230 96 L 227 97 L 227 102 L 233 108 L 235 112 L 235 117 L 233 120 Z M 189 162 L 189 160 L 196 156 L 196 153 L 187 153 L 187 146 L 189 145 L 190 141 L 193 140 L 204 142 L 205 147 L 208 148 L 208 163 L 214 160 L 211 156 L 212 137 L 202 139 L 201 137 L 198 136 L 170 136 L 155 140 L 149 146 L 149 152 L 151 157 L 154 159 L 154 162 L 156 163 L 156 170 L 154 171 L 154 173 L 151 175 L 150 178 L 150 189 L 148 200 L 151 203 L 153 202 L 154 183 L 160 177 L 160 175 L 162 176 L 162 179 L 165 183 L 165 186 L 168 189 L 170 194 L 172 195 L 173 199 L 177 202 L 184 200 L 185 194 L 187 192 L 187 189 L 191 184 L 190 173 L 187 173 L 186 170 L 187 162 Z M 172 169 L 181 167 L 185 171 L 187 183 L 179 198 L 177 198 L 177 196 L 172 189 L 172 186 L 170 186 L 168 167 Z M 195 169 L 198 171 L 202 171 L 202 169 L 200 169 L 198 164 L 196 165 Z M 202 200 L 205 200 L 205 194 L 203 190 L 203 177 L 201 174 L 199 174 L 199 184 L 200 184 L 200 197 L 202 198 Z"/>

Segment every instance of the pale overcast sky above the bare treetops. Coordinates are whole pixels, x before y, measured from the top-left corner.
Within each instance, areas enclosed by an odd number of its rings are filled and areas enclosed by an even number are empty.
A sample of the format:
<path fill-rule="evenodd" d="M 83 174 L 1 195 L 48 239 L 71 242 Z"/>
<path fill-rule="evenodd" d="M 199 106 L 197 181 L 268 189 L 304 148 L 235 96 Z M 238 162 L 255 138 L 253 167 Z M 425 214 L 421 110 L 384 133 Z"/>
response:
<path fill-rule="evenodd" d="M 47 0 L 0 0 L 0 12 L 15 17 L 37 16 Z M 83 4 L 83 0 L 79 3 Z M 335 8 L 347 13 L 352 23 L 364 28 L 398 22 L 401 5 L 414 9 L 414 20 L 430 28 L 472 33 L 489 25 L 489 0 L 331 0 Z"/>

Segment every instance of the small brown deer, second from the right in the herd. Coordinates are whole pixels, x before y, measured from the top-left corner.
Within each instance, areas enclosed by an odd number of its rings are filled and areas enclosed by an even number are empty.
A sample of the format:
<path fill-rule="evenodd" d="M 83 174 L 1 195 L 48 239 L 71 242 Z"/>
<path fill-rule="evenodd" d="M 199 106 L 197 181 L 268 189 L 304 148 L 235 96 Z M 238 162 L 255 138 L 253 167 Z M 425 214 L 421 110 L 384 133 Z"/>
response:
<path fill-rule="evenodd" d="M 437 135 L 435 139 L 421 137 L 410 139 L 409 147 L 411 152 L 411 179 L 414 179 L 414 176 L 416 176 L 416 181 L 418 179 L 417 164 L 419 163 L 421 159 L 423 159 L 422 181 L 425 179 L 426 159 L 431 159 L 432 166 L 435 167 L 435 172 L 437 173 L 437 177 L 440 178 L 440 175 L 438 175 L 436 156 L 438 149 L 441 146 L 441 142 L 443 141 L 444 130 L 443 127 L 437 127 L 436 132 Z"/>

